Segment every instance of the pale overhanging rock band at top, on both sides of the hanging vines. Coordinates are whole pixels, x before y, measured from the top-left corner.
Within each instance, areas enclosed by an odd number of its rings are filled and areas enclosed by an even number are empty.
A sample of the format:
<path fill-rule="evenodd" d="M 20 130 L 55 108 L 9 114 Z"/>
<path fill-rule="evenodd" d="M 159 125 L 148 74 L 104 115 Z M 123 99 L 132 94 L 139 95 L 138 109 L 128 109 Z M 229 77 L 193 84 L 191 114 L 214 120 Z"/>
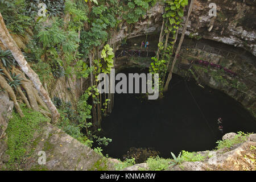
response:
<path fill-rule="evenodd" d="M 216 17 L 209 16 L 210 3 L 217 5 Z M 247 0 L 195 0 L 185 34 L 241 47 L 256 56 L 255 6 Z M 159 2 L 139 22 L 119 24 L 117 41 L 160 32 L 163 13 L 164 5 Z"/>

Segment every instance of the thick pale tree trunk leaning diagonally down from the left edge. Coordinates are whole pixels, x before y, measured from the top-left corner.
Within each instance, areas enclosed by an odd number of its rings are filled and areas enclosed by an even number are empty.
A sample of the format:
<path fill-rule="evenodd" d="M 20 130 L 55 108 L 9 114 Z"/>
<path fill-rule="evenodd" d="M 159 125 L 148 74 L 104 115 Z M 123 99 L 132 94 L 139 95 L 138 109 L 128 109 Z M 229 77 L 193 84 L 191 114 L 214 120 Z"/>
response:
<path fill-rule="evenodd" d="M 57 111 L 55 105 L 52 103 L 48 93 L 43 88 L 43 85 L 40 82 L 38 75 L 30 68 L 30 65 L 28 65 L 19 47 L 14 42 L 13 38 L 11 38 L 9 31 L 5 26 L 5 22 L 3 21 L 3 17 L 1 13 L 0 13 L 0 40 L 3 43 L 3 45 L 11 51 L 11 53 L 14 56 L 14 59 L 19 64 L 22 71 L 26 73 L 28 78 L 30 78 L 30 80 L 34 84 L 36 90 L 38 90 L 38 92 L 40 93 L 42 100 L 44 101 L 44 103 L 46 103 L 48 109 L 51 111 L 51 114 L 52 114 L 51 123 L 56 123 L 60 117 L 60 114 Z"/>

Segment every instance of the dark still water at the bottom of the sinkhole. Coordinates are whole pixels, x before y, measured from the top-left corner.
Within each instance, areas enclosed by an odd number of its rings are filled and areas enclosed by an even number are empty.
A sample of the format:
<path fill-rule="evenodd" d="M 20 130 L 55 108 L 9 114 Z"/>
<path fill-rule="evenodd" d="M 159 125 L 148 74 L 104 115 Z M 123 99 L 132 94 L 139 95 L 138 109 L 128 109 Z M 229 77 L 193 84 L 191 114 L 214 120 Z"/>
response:
<path fill-rule="evenodd" d="M 102 121 L 104 136 L 113 140 L 103 148 L 104 154 L 122 159 L 130 147 L 151 147 L 170 158 L 170 152 L 212 150 L 225 133 L 256 131 L 255 119 L 233 98 L 177 75 L 162 100 L 140 96 L 115 94 L 112 114 Z M 223 119 L 224 134 L 218 130 L 218 117 Z"/>

